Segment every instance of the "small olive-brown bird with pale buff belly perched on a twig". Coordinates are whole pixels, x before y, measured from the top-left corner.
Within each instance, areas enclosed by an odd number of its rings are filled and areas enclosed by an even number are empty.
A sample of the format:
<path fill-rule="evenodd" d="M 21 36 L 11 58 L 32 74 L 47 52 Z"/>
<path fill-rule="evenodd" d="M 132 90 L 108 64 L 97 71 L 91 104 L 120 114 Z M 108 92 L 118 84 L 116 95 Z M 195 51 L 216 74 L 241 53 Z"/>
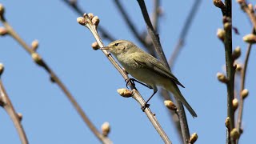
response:
<path fill-rule="evenodd" d="M 146 86 L 153 89 L 154 93 L 150 98 L 157 93 L 157 86 L 162 86 L 164 89 L 173 93 L 174 97 L 186 106 L 186 109 L 190 111 L 193 117 L 197 117 L 197 114 L 189 103 L 186 102 L 186 99 L 178 89 L 177 85 L 182 86 L 182 84 L 178 82 L 174 74 L 171 74 L 170 70 L 157 58 L 141 50 L 133 42 L 126 40 L 111 42 L 108 46 L 102 47 L 101 49 L 109 50 L 131 76 L 140 82 L 146 83 Z M 146 105 L 142 106 L 142 110 L 146 106 L 149 106 L 147 102 L 149 102 L 150 98 L 146 101 Z"/>

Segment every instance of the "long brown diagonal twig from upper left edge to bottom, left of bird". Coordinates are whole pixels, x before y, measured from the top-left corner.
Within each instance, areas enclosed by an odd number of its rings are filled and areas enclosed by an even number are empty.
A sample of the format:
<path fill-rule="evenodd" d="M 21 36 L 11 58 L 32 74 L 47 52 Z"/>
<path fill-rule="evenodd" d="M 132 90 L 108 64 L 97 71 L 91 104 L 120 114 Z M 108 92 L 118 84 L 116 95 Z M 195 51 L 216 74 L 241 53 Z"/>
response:
<path fill-rule="evenodd" d="M 2 21 L 2 24 L 5 26 L 8 34 L 10 34 L 10 36 L 14 38 L 14 40 L 16 40 L 32 56 L 32 58 L 34 59 L 34 62 L 36 62 L 38 66 L 42 66 L 42 68 L 46 70 L 46 72 L 50 75 L 50 79 L 53 82 L 57 83 L 57 85 L 61 88 L 63 93 L 66 95 L 66 98 L 69 99 L 71 104 L 74 106 L 75 110 L 77 110 L 82 120 L 86 123 L 87 126 L 89 126 L 90 130 L 94 133 L 94 135 L 103 143 L 108 143 L 108 144 L 112 143 L 109 138 L 103 136 L 96 129 L 93 123 L 90 122 L 90 119 L 86 116 L 85 112 L 82 110 L 82 107 L 79 106 L 78 102 L 76 102 L 75 98 L 72 96 L 72 94 L 70 94 L 66 86 L 64 86 L 64 84 L 61 82 L 58 76 L 54 73 L 53 70 L 50 69 L 50 67 L 46 64 L 46 62 L 42 59 L 42 57 L 36 51 L 31 49 L 30 46 L 27 45 L 26 42 L 24 42 L 22 38 L 18 36 L 18 34 L 13 30 L 10 24 L 6 22 L 6 19 L 3 17 L 3 15 L 0 18 L 0 20 Z"/>

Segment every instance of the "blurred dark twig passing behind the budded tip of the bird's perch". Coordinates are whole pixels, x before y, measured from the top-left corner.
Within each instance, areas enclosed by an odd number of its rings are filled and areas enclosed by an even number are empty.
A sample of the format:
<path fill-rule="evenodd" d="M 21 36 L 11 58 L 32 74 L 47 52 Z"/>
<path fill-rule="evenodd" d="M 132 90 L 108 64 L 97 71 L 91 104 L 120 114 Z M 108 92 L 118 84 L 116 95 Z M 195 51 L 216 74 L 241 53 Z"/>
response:
<path fill-rule="evenodd" d="M 76 0 L 62 0 L 63 2 L 66 3 L 66 5 L 70 6 L 78 15 L 84 14 L 86 11 L 82 10 L 80 6 L 78 6 L 78 2 Z M 104 27 L 99 26 L 98 31 L 102 34 L 103 38 L 106 38 L 110 42 L 113 42 L 116 40 L 113 35 L 111 35 L 107 30 L 105 30 Z"/>

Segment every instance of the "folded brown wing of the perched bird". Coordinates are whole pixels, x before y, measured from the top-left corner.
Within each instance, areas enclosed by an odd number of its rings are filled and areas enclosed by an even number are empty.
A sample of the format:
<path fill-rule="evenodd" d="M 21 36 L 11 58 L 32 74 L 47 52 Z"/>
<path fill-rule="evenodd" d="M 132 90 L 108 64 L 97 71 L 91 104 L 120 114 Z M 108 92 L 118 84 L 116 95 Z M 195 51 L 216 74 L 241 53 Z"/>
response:
<path fill-rule="evenodd" d="M 150 55 L 151 56 L 151 55 Z M 176 84 L 182 86 L 183 88 L 185 88 L 181 82 L 178 82 L 178 79 L 174 76 L 174 74 L 171 74 L 170 70 L 168 70 L 166 68 L 166 66 L 164 66 L 162 64 L 162 62 L 158 61 L 158 59 L 154 58 L 153 56 L 151 56 L 152 58 L 150 58 L 150 60 L 146 59 L 145 62 L 142 62 L 140 60 L 140 58 L 134 58 L 134 61 L 138 63 L 138 65 L 141 65 L 149 70 L 154 70 L 154 72 L 157 72 L 158 74 L 170 78 L 171 80 L 173 80 Z"/>

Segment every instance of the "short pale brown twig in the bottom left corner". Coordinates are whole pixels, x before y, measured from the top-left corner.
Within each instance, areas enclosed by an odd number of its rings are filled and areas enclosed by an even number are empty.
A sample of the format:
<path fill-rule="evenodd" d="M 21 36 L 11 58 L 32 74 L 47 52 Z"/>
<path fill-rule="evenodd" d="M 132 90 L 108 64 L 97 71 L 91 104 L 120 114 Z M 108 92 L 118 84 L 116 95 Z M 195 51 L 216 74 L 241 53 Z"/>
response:
<path fill-rule="evenodd" d="M 18 136 L 22 142 L 22 144 L 27 144 L 28 139 L 26 138 L 25 130 L 23 129 L 21 118 L 18 118 L 18 114 L 12 105 L 8 94 L 2 84 L 2 80 L 0 79 L 0 103 L 1 106 L 6 110 L 6 113 L 10 116 L 10 119 L 14 122 L 14 126 L 18 132 Z"/>

